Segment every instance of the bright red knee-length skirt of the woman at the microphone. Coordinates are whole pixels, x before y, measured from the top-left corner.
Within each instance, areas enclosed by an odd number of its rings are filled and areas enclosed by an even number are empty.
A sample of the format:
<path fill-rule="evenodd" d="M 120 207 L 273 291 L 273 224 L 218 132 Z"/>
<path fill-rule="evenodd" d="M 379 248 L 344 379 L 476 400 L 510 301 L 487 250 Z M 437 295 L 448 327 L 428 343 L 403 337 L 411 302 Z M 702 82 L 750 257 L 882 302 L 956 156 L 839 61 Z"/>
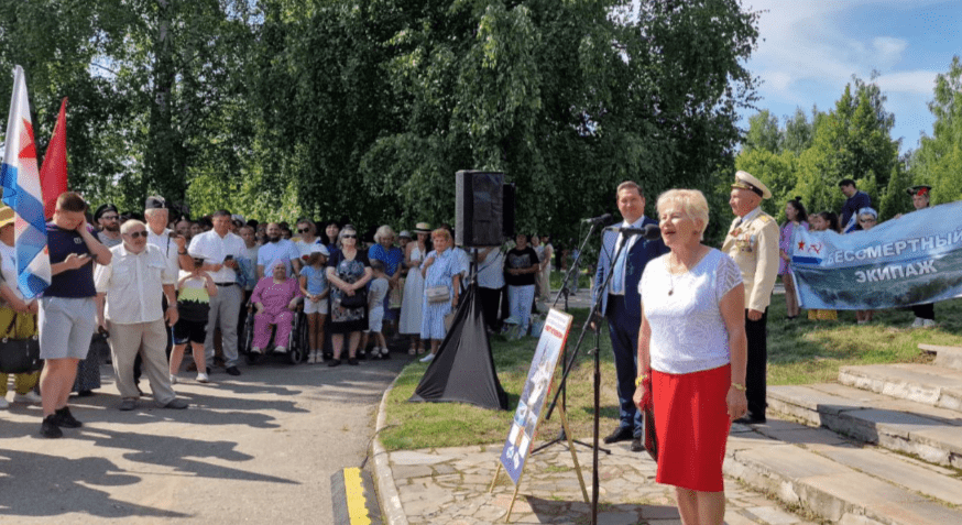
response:
<path fill-rule="evenodd" d="M 690 374 L 652 371 L 656 481 L 699 492 L 722 492 L 722 462 L 732 423 L 725 397 L 731 364 Z"/>

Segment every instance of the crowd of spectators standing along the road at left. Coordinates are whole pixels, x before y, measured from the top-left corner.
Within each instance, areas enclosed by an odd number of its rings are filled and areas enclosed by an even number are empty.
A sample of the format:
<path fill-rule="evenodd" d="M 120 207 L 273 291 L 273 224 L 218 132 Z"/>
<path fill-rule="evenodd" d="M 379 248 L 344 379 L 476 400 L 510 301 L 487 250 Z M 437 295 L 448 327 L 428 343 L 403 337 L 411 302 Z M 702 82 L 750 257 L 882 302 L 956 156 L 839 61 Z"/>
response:
<path fill-rule="evenodd" d="M 81 425 L 69 395 L 92 395 L 100 386 L 98 343 L 105 340 L 119 409 L 138 407 L 141 375 L 155 404 L 178 409 L 187 403 L 173 385 L 185 381 L 188 352 L 187 368 L 199 383 L 210 382 L 217 365 L 241 375 L 242 352 L 253 365 L 269 351 L 293 351 L 288 340 L 298 315 L 306 321 L 308 364 L 389 359 L 392 346 L 429 362 L 464 295 L 472 259 L 492 331 L 506 322 L 527 330 L 536 293 L 549 294 L 547 237 L 518 234 L 510 250 L 469 253 L 455 245 L 449 226 L 426 222 L 413 234 L 381 226 L 364 239 L 352 225 L 334 220 L 299 218 L 292 230 L 227 210 L 197 220 L 173 214 L 160 196 L 149 197 L 142 212 L 120 214 L 103 204 L 91 214 L 78 194 L 61 195 L 47 223 L 52 284 L 40 298 L 24 300 L 17 286 L 14 214 L 0 208 L 0 321 L 9 325 L 9 337 L 39 333 L 45 360 L 42 372 L 17 375 L 13 402 L 43 405 L 43 436 L 61 437 L 63 428 Z M 0 407 L 7 405 L 4 395 Z"/>

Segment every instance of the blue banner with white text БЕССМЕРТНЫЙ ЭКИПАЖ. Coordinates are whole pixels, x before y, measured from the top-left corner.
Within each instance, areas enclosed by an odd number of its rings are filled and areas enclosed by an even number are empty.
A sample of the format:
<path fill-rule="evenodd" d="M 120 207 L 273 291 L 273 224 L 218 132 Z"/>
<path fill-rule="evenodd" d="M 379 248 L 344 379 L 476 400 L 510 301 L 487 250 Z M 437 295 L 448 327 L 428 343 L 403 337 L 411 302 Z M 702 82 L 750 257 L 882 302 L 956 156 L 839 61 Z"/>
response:
<path fill-rule="evenodd" d="M 962 201 L 844 236 L 796 228 L 791 271 L 804 308 L 895 308 L 962 297 Z"/>

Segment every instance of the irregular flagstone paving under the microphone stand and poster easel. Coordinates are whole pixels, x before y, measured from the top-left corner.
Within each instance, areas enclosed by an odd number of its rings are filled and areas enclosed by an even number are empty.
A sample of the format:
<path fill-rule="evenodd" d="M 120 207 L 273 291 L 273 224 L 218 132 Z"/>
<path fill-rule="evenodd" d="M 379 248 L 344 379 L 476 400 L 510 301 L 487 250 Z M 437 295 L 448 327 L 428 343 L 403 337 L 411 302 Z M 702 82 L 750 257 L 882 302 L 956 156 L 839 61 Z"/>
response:
<path fill-rule="evenodd" d="M 386 394 L 385 394 L 386 396 Z M 383 426 L 382 403 L 379 428 Z M 737 433 L 751 433 L 736 426 Z M 505 429 L 507 431 L 507 429 Z M 481 525 L 504 523 L 514 484 L 502 472 L 493 492 L 501 444 L 385 452 L 374 444 L 374 475 L 385 523 Z M 591 450 L 577 446 L 578 462 L 591 495 Z M 655 462 L 628 450 L 627 442 L 599 456 L 599 524 L 680 524 L 674 488 L 655 483 Z M 777 503 L 726 480 L 729 525 L 812 525 Z M 525 466 L 511 523 L 588 524 L 584 502 L 567 445 L 555 445 Z"/>

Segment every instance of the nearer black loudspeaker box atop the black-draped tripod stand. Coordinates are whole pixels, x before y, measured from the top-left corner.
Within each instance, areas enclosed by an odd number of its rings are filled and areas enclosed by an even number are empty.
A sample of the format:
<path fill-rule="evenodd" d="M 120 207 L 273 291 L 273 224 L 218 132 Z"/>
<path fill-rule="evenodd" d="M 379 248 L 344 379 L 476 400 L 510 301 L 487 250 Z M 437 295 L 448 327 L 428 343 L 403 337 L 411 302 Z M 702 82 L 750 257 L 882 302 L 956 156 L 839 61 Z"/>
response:
<path fill-rule="evenodd" d="M 501 245 L 504 174 L 461 169 L 455 174 L 455 242 Z"/>

